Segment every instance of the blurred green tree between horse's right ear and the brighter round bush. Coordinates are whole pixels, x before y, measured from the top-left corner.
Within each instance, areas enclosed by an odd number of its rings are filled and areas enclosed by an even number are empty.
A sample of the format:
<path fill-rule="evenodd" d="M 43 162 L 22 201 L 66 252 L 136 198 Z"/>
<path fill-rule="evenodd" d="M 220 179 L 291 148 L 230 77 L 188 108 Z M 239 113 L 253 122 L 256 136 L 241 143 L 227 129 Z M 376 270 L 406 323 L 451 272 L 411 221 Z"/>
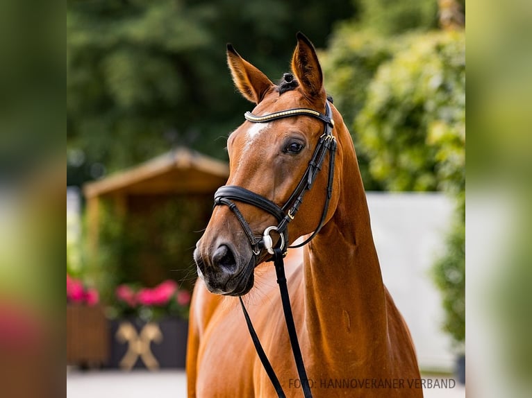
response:
<path fill-rule="evenodd" d="M 456 19 L 463 0 L 354 0 L 360 10 L 335 29 L 322 54 L 326 88 L 351 130 L 365 189 L 386 189 L 369 171 L 371 156 L 360 144 L 356 116 L 381 64 L 410 45 L 410 37 Z M 438 17 L 440 16 L 440 19 Z M 450 23 L 450 22 L 449 22 Z"/>

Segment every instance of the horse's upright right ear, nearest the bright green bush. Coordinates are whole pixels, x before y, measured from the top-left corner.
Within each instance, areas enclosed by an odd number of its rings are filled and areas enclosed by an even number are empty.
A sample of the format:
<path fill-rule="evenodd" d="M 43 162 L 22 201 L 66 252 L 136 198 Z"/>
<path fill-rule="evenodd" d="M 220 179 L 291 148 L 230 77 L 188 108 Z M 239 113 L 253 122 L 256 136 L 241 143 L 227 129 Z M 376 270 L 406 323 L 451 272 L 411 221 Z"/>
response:
<path fill-rule="evenodd" d="M 316 50 L 312 42 L 301 32 L 297 33 L 297 47 L 292 57 L 292 72 L 308 96 L 324 94 L 322 67 L 319 66 Z"/>

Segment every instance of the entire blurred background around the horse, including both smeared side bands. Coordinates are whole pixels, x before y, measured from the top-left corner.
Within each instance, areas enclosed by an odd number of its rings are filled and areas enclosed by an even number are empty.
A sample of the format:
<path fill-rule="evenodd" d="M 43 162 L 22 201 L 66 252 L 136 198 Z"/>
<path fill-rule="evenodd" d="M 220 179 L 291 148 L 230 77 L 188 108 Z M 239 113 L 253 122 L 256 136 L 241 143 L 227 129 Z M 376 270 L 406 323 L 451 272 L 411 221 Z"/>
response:
<path fill-rule="evenodd" d="M 48 364 L 65 356 L 69 397 L 185 395 L 192 248 L 226 178 L 226 137 L 251 105 L 225 45 L 276 80 L 297 31 L 353 135 L 385 284 L 423 377 L 456 380 L 426 397 L 465 395 L 466 307 L 468 392 L 528 396 L 532 9 L 468 4 L 466 305 L 465 1 L 67 1 L 66 126 L 65 48 L 51 44 L 64 43 L 63 15 L 1 3 L 6 396 L 64 390 Z"/>

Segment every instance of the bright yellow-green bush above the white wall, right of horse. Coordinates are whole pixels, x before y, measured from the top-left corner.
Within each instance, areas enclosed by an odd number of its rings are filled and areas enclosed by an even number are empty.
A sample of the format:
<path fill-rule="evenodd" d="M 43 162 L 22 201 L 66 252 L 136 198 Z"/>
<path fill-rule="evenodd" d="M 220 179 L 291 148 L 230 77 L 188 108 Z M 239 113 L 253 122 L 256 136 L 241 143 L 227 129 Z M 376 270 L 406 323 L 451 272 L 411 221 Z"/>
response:
<path fill-rule="evenodd" d="M 464 40 L 458 32 L 412 37 L 376 73 L 356 128 L 387 189 L 465 189 Z"/>

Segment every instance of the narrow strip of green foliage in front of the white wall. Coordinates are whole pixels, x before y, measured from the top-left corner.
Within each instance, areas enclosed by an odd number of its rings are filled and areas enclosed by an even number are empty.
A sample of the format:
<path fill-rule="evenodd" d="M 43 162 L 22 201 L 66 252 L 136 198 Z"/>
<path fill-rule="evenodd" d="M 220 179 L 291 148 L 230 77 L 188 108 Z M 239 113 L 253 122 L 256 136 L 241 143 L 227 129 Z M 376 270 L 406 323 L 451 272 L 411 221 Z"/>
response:
<path fill-rule="evenodd" d="M 442 293 L 445 313 L 443 330 L 447 331 L 456 349 L 465 344 L 465 196 L 451 232 L 447 236 L 446 253 L 435 262 L 432 272 L 435 285 Z"/>

